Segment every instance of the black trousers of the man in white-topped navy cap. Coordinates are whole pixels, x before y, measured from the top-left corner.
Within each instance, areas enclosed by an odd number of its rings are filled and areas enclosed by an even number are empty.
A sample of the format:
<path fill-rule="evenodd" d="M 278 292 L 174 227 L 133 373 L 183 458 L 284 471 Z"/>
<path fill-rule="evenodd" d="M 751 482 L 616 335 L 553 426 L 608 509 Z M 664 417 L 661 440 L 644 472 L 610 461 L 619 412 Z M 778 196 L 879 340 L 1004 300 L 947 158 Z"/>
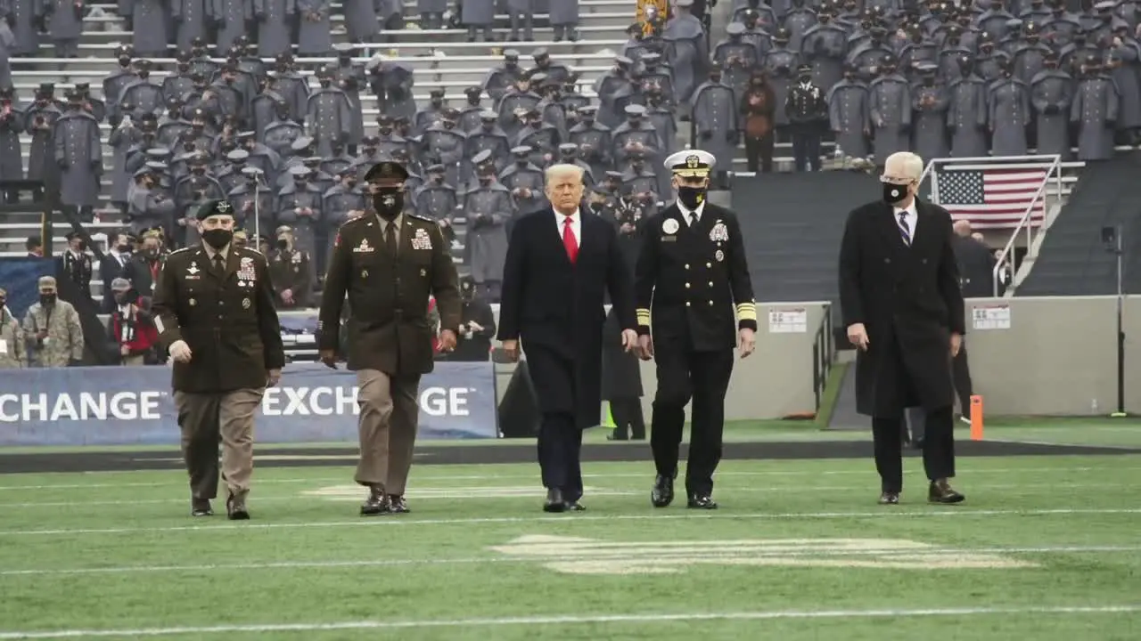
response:
<path fill-rule="evenodd" d="M 650 448 L 657 473 L 675 478 L 686 405 L 693 399 L 686 492 L 707 496 L 721 462 L 725 392 L 733 374 L 733 350 L 690 351 L 656 344 L 657 393 L 650 419 Z"/>

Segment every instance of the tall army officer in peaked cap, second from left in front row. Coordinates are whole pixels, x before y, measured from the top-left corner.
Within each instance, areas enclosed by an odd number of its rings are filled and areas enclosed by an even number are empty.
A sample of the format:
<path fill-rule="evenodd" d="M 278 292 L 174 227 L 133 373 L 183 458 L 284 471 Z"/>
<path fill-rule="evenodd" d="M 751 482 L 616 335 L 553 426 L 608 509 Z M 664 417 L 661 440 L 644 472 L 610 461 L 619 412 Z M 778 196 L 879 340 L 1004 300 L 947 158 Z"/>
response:
<path fill-rule="evenodd" d="M 404 489 L 419 419 L 420 376 L 431 372 L 436 297 L 440 349 L 455 348 L 459 277 L 435 220 L 404 211 L 398 163 L 365 175 L 372 211 L 341 226 L 329 259 L 317 324 L 321 360 L 335 367 L 341 308 L 348 294 L 348 367 L 357 373 L 361 459 L 356 482 L 369 488 L 363 516 L 408 511 Z"/>

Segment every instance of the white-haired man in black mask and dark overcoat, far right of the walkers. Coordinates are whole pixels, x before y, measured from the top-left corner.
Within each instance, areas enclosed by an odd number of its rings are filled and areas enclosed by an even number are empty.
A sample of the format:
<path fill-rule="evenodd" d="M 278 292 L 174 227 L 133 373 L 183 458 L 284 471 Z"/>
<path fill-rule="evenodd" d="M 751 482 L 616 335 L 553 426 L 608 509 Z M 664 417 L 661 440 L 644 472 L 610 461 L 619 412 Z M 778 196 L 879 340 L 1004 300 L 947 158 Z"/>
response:
<path fill-rule="evenodd" d="M 925 411 L 923 468 L 928 500 L 958 503 L 955 476 L 952 358 L 966 323 L 950 214 L 915 197 L 923 160 L 888 156 L 883 201 L 848 216 L 840 248 L 840 305 L 856 358 L 856 408 L 872 416 L 880 503 L 903 490 L 903 419 Z"/>

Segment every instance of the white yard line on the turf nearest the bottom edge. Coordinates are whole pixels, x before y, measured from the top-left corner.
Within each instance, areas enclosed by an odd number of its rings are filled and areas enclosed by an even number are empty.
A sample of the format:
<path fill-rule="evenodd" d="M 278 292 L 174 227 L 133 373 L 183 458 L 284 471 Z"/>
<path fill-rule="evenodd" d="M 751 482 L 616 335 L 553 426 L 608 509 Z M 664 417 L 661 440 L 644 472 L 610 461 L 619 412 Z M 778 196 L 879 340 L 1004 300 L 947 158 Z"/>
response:
<path fill-rule="evenodd" d="M 416 627 L 505 627 L 512 625 L 669 623 L 687 620 L 764 620 L 881 617 L 961 617 L 981 615 L 1114 615 L 1141 611 L 1139 605 L 1101 607 L 1037 608 L 939 608 L 892 610 L 770 610 L 752 612 L 690 612 L 644 615 L 531 616 L 468 619 L 351 620 L 335 623 L 292 623 L 266 625 L 215 625 L 203 627 L 146 627 L 138 630 L 58 630 L 0 632 L 0 639 L 78 639 L 98 636 L 175 636 L 183 634 L 241 634 L 264 632 L 330 632 L 338 630 L 399 630 Z"/>

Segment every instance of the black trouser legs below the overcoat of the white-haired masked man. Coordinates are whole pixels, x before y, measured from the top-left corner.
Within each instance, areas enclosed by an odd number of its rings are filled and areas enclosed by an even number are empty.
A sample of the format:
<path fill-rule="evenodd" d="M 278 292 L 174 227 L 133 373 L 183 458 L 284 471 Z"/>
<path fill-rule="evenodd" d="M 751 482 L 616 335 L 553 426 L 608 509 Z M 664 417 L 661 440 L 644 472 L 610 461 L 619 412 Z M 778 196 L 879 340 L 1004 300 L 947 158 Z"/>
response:
<path fill-rule="evenodd" d="M 955 476 L 955 435 L 950 407 L 928 411 L 923 417 L 923 470 L 930 480 Z M 875 470 L 882 492 L 904 489 L 904 416 L 872 419 Z"/>

